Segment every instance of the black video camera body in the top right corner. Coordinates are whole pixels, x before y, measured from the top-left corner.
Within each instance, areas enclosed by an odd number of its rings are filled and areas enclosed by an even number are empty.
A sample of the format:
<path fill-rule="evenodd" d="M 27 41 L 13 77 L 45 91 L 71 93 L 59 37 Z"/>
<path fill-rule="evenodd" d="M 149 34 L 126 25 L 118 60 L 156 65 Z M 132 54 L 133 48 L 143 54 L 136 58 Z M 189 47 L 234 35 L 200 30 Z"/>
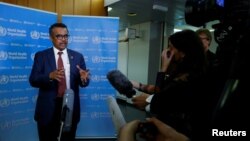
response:
<path fill-rule="evenodd" d="M 187 0 L 185 20 L 197 27 L 213 20 L 235 25 L 250 19 L 249 9 L 249 0 Z"/>

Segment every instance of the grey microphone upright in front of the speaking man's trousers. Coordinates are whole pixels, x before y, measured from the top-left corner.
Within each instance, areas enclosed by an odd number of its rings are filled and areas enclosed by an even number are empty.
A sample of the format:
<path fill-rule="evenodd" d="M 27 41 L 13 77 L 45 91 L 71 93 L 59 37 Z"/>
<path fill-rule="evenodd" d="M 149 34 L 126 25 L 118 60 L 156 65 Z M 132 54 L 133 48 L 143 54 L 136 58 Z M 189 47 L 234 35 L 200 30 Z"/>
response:
<path fill-rule="evenodd" d="M 62 104 L 62 117 L 61 120 L 64 122 L 63 131 L 70 131 L 72 125 L 74 106 L 74 92 L 72 89 L 65 90 Z"/>

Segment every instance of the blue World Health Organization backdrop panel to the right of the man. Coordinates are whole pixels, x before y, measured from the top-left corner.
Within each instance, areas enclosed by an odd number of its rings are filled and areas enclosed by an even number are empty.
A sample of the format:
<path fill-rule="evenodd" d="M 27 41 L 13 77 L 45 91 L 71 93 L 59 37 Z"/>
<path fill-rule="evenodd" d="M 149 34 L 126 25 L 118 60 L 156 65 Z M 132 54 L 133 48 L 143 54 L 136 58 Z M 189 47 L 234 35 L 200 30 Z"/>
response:
<path fill-rule="evenodd" d="M 106 98 L 116 91 L 106 79 L 117 68 L 118 18 L 64 15 L 70 32 L 69 48 L 84 55 L 91 73 L 90 85 L 81 89 L 79 138 L 115 137 Z"/>

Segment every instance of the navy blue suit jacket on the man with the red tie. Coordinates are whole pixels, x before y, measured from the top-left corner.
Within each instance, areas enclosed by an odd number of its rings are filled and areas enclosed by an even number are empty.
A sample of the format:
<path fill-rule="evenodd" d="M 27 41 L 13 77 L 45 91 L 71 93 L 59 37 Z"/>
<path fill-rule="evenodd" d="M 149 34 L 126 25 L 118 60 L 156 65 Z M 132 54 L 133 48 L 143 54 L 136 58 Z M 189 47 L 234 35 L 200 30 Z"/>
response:
<path fill-rule="evenodd" d="M 84 85 L 82 84 L 79 70 L 76 67 L 76 65 L 79 65 L 82 69 L 86 69 L 83 55 L 70 49 L 67 49 L 67 51 L 70 63 L 70 87 L 75 95 L 72 120 L 73 123 L 77 124 L 80 120 L 79 86 L 87 86 L 89 82 Z M 55 112 L 58 82 L 56 80 L 50 80 L 49 73 L 56 69 L 53 48 L 36 53 L 29 81 L 31 86 L 39 88 L 35 109 L 35 120 L 39 124 L 48 124 L 52 120 L 53 113 Z"/>

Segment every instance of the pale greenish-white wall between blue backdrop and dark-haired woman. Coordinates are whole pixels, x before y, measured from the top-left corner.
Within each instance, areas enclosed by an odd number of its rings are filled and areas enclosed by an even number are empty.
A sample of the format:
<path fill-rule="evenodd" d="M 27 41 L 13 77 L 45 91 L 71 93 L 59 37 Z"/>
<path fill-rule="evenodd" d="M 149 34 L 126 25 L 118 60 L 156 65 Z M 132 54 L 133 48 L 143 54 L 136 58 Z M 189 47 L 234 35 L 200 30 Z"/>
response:
<path fill-rule="evenodd" d="M 119 43 L 118 69 L 130 80 L 154 84 L 162 49 L 161 25 L 146 22 L 130 28 L 136 29 L 139 37 Z M 120 32 L 120 37 L 122 36 L 124 31 Z"/>

